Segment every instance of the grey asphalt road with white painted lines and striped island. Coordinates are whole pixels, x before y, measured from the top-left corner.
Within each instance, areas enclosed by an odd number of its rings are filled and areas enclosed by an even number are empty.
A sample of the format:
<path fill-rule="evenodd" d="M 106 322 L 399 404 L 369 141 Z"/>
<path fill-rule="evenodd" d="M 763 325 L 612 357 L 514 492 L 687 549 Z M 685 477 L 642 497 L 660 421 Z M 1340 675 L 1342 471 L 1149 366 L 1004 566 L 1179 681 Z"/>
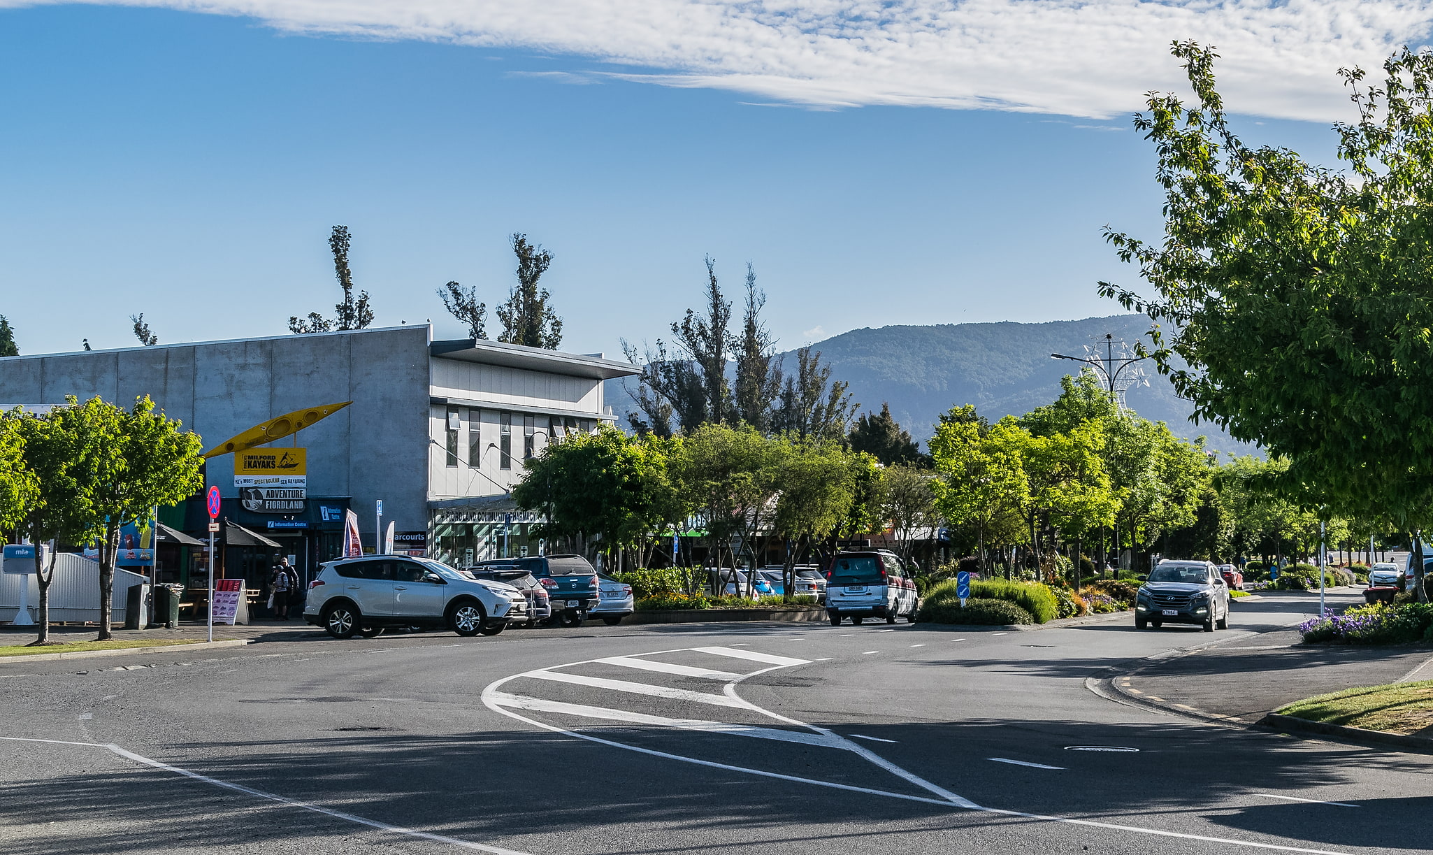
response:
<path fill-rule="evenodd" d="M 0 852 L 1426 851 L 1430 758 L 1085 686 L 1315 603 L 1214 634 L 678 624 L 3 665 Z"/>

